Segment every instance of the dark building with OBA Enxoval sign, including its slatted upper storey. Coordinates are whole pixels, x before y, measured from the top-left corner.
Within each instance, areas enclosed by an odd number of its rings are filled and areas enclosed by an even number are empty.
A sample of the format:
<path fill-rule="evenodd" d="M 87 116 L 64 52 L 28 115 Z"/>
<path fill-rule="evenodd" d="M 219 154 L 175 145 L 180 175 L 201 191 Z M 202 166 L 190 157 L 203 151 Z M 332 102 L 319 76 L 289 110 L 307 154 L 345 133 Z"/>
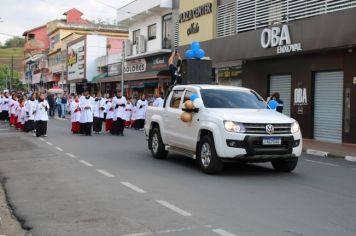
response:
<path fill-rule="evenodd" d="M 211 14 L 201 16 L 205 4 L 216 9 L 216 36 L 200 41 L 217 82 L 265 97 L 280 92 L 283 112 L 298 120 L 305 138 L 356 143 L 356 1 L 189 3 L 186 19 L 194 25 Z M 189 16 L 186 6 L 178 9 Z M 199 40 L 199 31 L 190 39 Z M 187 48 L 180 44 L 181 52 Z"/>

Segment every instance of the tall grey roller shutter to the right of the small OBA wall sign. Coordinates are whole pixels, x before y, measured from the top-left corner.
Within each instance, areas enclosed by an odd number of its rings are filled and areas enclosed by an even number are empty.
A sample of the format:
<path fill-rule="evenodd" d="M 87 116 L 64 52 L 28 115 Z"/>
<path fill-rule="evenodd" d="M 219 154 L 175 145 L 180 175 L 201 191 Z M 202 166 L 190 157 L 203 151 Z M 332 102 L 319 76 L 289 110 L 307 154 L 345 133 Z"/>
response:
<path fill-rule="evenodd" d="M 342 71 L 315 74 L 314 139 L 342 142 Z"/>

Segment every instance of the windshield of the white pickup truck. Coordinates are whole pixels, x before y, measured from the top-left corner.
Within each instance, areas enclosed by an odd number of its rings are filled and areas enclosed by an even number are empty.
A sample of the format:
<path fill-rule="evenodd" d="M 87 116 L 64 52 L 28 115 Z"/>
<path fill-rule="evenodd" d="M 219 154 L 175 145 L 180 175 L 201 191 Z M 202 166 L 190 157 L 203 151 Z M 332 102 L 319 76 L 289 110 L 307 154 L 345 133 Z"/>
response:
<path fill-rule="evenodd" d="M 263 99 L 252 90 L 202 89 L 200 93 L 206 108 L 267 108 Z"/>

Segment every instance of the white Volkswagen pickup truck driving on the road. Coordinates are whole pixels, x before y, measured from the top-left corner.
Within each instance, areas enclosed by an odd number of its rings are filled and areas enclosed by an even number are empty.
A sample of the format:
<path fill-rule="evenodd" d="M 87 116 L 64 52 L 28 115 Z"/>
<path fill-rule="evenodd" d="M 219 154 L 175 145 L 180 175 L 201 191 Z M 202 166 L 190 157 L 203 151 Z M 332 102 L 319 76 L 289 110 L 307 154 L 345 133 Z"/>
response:
<path fill-rule="evenodd" d="M 198 96 L 202 105 L 181 120 L 184 104 Z M 278 171 L 295 169 L 302 135 L 294 119 L 268 109 L 255 91 L 219 85 L 178 85 L 164 108 L 149 107 L 145 133 L 154 158 L 175 152 L 197 160 L 215 174 L 227 162 L 271 162 Z"/>

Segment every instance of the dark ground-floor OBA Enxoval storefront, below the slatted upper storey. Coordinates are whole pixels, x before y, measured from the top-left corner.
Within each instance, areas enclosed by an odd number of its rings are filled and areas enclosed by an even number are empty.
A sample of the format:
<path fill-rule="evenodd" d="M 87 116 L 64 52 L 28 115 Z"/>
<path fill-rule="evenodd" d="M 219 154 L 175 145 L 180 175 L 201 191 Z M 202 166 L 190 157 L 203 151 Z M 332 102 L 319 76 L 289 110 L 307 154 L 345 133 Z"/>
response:
<path fill-rule="evenodd" d="M 201 42 L 220 84 L 241 62 L 242 85 L 267 98 L 279 92 L 283 112 L 298 120 L 304 138 L 356 143 L 356 9 L 276 22 Z M 342 26 L 342 27 L 340 27 Z M 181 46 L 184 52 L 189 46 Z"/>

